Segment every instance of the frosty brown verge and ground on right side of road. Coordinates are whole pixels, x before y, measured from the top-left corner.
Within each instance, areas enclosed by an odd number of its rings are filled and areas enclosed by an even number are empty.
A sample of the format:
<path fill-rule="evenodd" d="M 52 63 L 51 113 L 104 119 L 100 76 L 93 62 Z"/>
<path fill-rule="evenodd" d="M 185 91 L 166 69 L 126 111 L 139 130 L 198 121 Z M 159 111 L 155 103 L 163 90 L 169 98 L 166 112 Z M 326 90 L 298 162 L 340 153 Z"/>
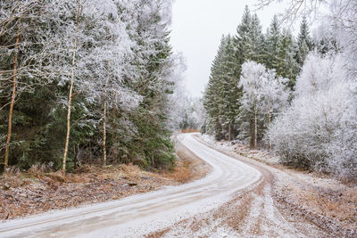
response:
<path fill-rule="evenodd" d="M 343 183 L 332 176 L 286 167 L 266 150 L 251 151 L 245 144 L 214 142 L 200 137 L 212 148 L 259 169 L 271 179 L 274 205 L 290 224 L 306 230 L 306 223 L 332 237 L 357 237 L 357 183 Z M 314 236 L 314 234 L 310 234 Z M 308 236 L 310 236 L 308 234 Z"/>

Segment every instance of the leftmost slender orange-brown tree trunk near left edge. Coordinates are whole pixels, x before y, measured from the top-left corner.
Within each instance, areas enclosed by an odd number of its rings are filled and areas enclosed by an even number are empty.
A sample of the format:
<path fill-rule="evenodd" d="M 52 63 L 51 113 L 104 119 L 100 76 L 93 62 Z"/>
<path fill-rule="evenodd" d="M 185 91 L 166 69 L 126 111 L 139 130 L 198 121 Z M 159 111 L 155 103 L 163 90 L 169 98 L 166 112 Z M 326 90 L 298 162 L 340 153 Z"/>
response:
<path fill-rule="evenodd" d="M 7 124 L 7 139 L 5 144 L 5 158 L 4 158 L 4 169 L 6 169 L 9 165 L 9 145 L 12 137 L 12 114 L 13 114 L 13 105 L 15 104 L 16 98 L 16 89 L 17 89 L 17 57 L 19 50 L 19 41 L 20 41 L 20 33 L 21 33 L 21 18 L 19 21 L 19 28 L 17 29 L 17 37 L 15 43 L 15 56 L 13 58 L 13 77 L 12 77 L 12 98 L 10 103 L 9 110 L 9 120 Z"/>

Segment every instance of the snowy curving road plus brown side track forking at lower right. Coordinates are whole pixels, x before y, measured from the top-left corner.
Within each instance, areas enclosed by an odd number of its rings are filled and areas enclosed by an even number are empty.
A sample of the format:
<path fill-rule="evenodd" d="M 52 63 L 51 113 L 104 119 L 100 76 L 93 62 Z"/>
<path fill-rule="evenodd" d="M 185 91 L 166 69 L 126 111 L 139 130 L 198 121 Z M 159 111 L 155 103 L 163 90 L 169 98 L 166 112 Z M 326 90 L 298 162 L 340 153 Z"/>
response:
<path fill-rule="evenodd" d="M 119 201 L 5 222 L 0 236 L 327 235 L 301 217 L 291 220 L 294 224 L 286 221 L 275 206 L 272 176 L 267 169 L 213 150 L 192 134 L 179 135 L 179 141 L 211 165 L 211 174 L 187 185 Z"/>

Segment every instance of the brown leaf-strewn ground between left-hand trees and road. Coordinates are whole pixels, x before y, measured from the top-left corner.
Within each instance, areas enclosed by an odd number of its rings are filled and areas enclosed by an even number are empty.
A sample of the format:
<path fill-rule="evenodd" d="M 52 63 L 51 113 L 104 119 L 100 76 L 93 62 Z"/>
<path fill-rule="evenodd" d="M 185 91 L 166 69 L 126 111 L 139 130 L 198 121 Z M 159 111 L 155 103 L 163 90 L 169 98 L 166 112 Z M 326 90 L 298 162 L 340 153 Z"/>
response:
<path fill-rule="evenodd" d="M 26 217 L 50 210 L 113 201 L 137 193 L 181 185 L 205 176 L 210 167 L 176 142 L 177 166 L 173 171 L 147 172 L 134 165 L 87 166 L 80 173 L 63 177 L 12 169 L 0 176 L 0 220 Z"/>

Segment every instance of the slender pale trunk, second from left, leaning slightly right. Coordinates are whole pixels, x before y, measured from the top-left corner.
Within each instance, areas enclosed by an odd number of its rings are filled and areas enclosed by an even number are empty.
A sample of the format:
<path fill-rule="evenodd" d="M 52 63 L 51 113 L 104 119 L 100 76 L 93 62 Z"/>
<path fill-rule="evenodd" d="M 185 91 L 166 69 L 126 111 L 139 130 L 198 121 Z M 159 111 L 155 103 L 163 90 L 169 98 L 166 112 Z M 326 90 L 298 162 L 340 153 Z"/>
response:
<path fill-rule="evenodd" d="M 72 54 L 71 86 L 70 86 L 70 94 L 68 96 L 66 144 L 64 145 L 63 160 L 62 160 L 62 175 L 63 176 L 65 176 L 65 174 L 66 174 L 66 160 L 67 160 L 67 153 L 68 153 L 68 145 L 70 143 L 72 92 L 73 92 L 73 84 L 74 84 L 74 70 L 76 68 L 76 53 L 77 53 L 78 31 L 79 31 L 79 15 L 81 12 L 81 8 L 82 8 L 82 5 L 79 3 L 79 8 L 77 11 L 77 18 L 76 18 L 76 30 L 75 30 L 75 36 L 74 36 L 73 54 Z"/>

